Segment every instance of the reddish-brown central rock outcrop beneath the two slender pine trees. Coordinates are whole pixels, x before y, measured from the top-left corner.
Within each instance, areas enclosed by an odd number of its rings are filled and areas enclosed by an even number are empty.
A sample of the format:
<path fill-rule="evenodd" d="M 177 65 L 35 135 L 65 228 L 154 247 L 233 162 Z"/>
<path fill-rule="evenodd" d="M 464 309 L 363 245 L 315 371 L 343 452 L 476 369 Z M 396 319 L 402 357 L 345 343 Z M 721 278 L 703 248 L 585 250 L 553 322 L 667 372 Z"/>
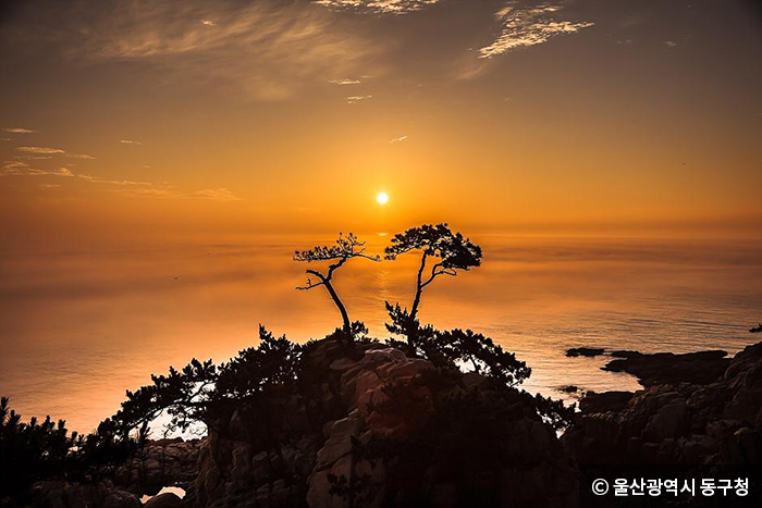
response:
<path fill-rule="evenodd" d="M 304 396 L 210 430 L 189 504 L 576 506 L 573 461 L 528 394 L 378 344 L 305 355 Z"/>

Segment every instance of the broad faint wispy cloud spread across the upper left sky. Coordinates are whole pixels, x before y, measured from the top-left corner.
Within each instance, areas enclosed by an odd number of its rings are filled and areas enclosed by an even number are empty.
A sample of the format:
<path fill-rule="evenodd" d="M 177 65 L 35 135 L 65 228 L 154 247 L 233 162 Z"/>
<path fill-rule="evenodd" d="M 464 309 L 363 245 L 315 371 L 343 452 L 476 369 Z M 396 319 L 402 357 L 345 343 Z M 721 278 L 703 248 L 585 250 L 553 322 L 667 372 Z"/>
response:
<path fill-rule="evenodd" d="M 378 3 L 394 10 L 427 2 Z M 380 71 L 374 57 L 386 49 L 357 20 L 304 1 L 168 0 L 149 8 L 144 0 L 71 0 L 29 10 L 11 28 L 19 44 L 45 40 L 83 64 L 145 62 L 162 71 L 162 83 L 216 80 L 266 101 L 290 98 L 327 75 Z"/>

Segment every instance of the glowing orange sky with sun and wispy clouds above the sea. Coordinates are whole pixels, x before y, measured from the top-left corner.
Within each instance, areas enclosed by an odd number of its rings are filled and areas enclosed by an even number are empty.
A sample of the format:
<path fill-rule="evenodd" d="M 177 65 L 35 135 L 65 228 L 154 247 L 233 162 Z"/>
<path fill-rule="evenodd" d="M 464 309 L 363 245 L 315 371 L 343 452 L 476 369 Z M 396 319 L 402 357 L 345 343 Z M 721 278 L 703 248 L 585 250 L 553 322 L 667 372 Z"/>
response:
<path fill-rule="evenodd" d="M 0 61 L 7 248 L 762 233 L 751 1 L 8 0 Z"/>

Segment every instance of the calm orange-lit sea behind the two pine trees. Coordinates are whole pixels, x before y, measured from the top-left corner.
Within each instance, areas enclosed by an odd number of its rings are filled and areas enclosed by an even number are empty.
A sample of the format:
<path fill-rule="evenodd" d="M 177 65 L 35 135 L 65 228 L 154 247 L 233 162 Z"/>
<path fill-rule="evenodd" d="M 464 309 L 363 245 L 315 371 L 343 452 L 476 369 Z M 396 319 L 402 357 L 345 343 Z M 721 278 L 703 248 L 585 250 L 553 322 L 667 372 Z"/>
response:
<path fill-rule="evenodd" d="M 297 292 L 295 248 L 331 238 L 253 238 L 161 248 L 3 252 L 0 394 L 25 417 L 89 431 L 124 398 L 190 358 L 224 361 L 257 326 L 304 342 L 339 325 L 319 289 Z M 762 245 L 741 240 L 477 235 L 483 267 L 444 277 L 421 319 L 492 336 L 533 369 L 531 392 L 637 389 L 576 346 L 736 352 L 762 337 Z M 372 236 L 369 249 L 388 240 Z M 336 275 L 353 319 L 384 337 L 383 301 L 409 305 L 416 259 L 354 260 Z M 569 397 L 563 395 L 564 397 Z"/>

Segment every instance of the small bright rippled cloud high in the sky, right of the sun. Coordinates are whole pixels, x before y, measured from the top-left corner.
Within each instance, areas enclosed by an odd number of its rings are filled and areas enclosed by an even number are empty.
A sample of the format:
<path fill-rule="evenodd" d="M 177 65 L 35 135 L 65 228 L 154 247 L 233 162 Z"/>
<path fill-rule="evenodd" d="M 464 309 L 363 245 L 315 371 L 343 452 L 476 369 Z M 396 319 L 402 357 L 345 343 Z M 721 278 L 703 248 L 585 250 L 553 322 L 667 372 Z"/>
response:
<path fill-rule="evenodd" d="M 479 50 L 479 58 L 488 59 L 516 49 L 549 41 L 560 35 L 575 34 L 593 26 L 592 22 L 570 22 L 560 18 L 563 7 L 558 2 L 523 5 L 512 1 L 495 16 L 503 28 L 500 37 Z"/>

